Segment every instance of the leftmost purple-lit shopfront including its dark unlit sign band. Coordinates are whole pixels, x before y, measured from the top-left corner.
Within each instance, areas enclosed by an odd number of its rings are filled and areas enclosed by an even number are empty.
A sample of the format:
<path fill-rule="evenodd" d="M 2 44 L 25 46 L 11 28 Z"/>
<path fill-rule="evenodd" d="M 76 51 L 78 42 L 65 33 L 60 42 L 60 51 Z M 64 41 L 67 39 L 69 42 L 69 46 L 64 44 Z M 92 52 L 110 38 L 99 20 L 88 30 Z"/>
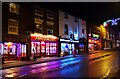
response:
<path fill-rule="evenodd" d="M 27 56 L 27 44 L 28 39 L 26 36 L 9 36 L 4 35 L 3 42 L 0 43 L 0 51 L 5 59 L 9 60 L 21 60 L 22 57 Z"/>

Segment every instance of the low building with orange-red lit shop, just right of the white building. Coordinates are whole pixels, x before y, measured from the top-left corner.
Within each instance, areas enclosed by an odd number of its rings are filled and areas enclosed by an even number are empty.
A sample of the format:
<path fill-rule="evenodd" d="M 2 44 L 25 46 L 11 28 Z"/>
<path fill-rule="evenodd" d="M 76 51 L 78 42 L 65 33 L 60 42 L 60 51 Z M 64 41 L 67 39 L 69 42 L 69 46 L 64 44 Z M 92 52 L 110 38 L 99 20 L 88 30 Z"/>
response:
<path fill-rule="evenodd" d="M 101 49 L 100 27 L 92 23 L 88 23 L 88 49 L 95 51 Z"/>

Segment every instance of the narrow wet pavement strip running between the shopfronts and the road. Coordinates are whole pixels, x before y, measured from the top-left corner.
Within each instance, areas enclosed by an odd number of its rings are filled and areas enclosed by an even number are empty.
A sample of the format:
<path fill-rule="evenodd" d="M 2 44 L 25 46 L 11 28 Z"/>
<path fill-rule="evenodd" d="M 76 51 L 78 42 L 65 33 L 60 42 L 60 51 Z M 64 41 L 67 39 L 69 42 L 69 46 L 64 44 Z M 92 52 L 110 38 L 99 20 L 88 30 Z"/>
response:
<path fill-rule="evenodd" d="M 98 51 L 94 51 L 94 52 L 84 53 L 81 55 L 76 55 L 76 57 L 82 56 L 82 55 L 94 54 L 94 53 L 98 53 L 100 51 L 104 51 L 104 50 L 98 50 Z M 20 60 L 5 61 L 4 64 L 0 64 L 0 67 L 1 67 L 0 70 L 7 69 L 7 68 L 13 68 L 13 67 L 20 67 L 20 66 L 25 66 L 25 65 L 31 65 L 31 64 L 38 64 L 38 63 L 62 60 L 65 58 L 70 58 L 70 57 L 73 57 L 73 55 L 68 55 L 68 56 L 64 56 L 64 57 L 41 57 L 41 58 L 37 58 L 36 60 L 28 60 L 28 61 L 20 61 Z"/>

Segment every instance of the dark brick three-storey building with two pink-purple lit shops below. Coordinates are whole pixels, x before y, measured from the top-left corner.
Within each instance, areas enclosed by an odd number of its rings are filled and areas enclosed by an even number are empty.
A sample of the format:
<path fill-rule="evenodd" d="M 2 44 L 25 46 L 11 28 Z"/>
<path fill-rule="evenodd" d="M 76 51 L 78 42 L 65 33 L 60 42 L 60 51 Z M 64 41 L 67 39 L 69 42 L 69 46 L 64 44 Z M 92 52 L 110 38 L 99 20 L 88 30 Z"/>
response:
<path fill-rule="evenodd" d="M 58 13 L 31 3 L 2 4 L 2 42 L 5 60 L 58 55 Z"/>

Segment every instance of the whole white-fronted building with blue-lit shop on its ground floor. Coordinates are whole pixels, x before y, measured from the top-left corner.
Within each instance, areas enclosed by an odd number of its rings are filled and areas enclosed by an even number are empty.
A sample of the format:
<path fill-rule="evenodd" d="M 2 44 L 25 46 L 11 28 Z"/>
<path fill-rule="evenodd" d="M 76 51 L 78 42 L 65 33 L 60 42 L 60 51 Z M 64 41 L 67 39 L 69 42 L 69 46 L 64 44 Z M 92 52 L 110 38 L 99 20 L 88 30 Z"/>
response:
<path fill-rule="evenodd" d="M 59 10 L 60 55 L 79 54 L 84 51 L 85 43 L 79 42 L 81 38 L 87 39 L 86 22 Z"/>

